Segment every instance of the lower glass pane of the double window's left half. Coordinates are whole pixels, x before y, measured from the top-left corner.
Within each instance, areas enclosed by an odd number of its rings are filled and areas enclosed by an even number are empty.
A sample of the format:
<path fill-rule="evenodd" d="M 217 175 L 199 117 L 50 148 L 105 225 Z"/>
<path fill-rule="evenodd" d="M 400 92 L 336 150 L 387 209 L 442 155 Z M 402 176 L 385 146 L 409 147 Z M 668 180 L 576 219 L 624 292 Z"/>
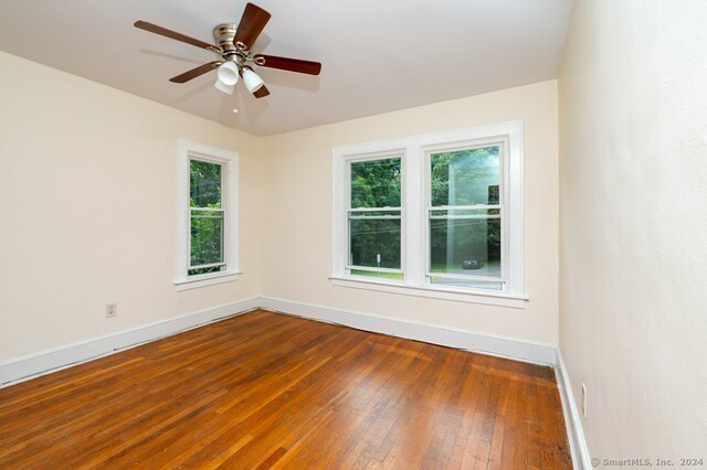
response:
<path fill-rule="evenodd" d="M 400 269 L 400 213 L 398 216 L 349 217 L 349 264 Z"/>

